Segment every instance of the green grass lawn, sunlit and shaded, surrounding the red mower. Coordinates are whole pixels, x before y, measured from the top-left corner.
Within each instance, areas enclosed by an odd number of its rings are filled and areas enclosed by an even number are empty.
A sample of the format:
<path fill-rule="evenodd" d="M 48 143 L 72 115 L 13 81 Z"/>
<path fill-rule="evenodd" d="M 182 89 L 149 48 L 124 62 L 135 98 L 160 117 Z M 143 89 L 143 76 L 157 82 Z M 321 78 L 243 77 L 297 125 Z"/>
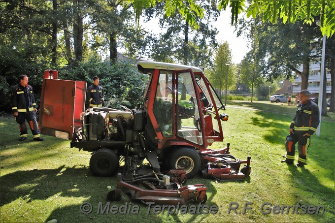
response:
<path fill-rule="evenodd" d="M 68 140 L 43 136 L 44 142 L 20 142 L 13 118 L 0 118 L 0 222 L 335 222 L 335 115 L 323 117 L 320 137 L 313 135 L 305 168 L 281 163 L 285 137 L 296 107 L 268 101 L 228 101 L 229 121 L 223 124 L 225 139 L 213 149 L 231 143 L 231 154 L 239 159 L 251 156 L 251 174 L 245 181 L 217 182 L 197 176 L 187 184 L 203 183 L 207 188 L 206 205 L 217 205 L 217 214 L 147 214 L 142 203 L 126 195 L 110 206 L 138 205 L 138 214 L 98 214 L 101 202 L 108 201 L 116 177 L 95 177 L 89 169 L 91 154 L 70 148 Z M 296 160 L 298 152 L 296 153 Z M 93 212 L 83 214 L 84 202 Z M 132 203 L 130 203 L 132 202 Z M 230 204 L 236 206 L 237 214 Z M 275 205 L 324 206 L 319 214 L 262 213 L 261 207 Z M 251 209 L 243 214 L 243 207 Z M 300 209 L 299 211 L 303 211 Z M 280 212 L 280 211 L 279 211 Z"/>

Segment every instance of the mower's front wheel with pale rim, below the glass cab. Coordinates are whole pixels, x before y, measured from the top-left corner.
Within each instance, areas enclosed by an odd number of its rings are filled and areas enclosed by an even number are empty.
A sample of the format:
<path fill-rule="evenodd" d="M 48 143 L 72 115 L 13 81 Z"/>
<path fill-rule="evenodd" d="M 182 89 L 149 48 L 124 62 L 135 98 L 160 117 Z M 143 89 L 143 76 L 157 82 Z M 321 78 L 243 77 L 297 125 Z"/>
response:
<path fill-rule="evenodd" d="M 191 148 L 177 148 L 168 160 L 170 169 L 184 168 L 186 177 L 191 179 L 200 170 L 201 160 L 198 153 Z"/>

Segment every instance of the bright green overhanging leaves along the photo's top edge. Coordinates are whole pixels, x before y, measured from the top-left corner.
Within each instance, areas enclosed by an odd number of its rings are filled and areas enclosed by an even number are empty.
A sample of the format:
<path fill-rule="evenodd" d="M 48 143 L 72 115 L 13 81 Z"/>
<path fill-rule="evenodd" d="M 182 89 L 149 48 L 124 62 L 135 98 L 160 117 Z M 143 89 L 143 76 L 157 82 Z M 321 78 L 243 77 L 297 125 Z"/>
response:
<path fill-rule="evenodd" d="M 194 26 L 199 27 L 196 18 L 202 18 L 205 13 L 204 9 L 196 0 L 157 0 L 165 2 L 166 15 L 179 13 L 186 21 Z M 129 0 L 133 3 L 137 21 L 142 13 L 142 8 L 149 8 L 156 5 L 156 0 Z M 215 2 L 211 1 L 211 2 Z M 320 18 L 320 29 L 322 35 L 330 37 L 335 32 L 335 1 L 334 0 L 217 0 L 219 10 L 231 8 L 232 25 L 237 23 L 238 14 L 245 12 L 247 17 L 256 18 L 262 16 L 263 21 L 269 21 L 272 24 L 277 23 L 278 17 L 285 23 L 295 23 L 302 21 L 311 25 L 315 18 Z"/>

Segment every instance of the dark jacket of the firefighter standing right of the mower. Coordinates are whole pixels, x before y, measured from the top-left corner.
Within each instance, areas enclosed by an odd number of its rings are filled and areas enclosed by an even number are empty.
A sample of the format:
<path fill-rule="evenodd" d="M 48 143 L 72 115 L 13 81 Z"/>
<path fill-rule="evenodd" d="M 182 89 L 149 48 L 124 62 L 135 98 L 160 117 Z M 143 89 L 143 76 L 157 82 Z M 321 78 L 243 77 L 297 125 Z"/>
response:
<path fill-rule="evenodd" d="M 307 131 L 312 135 L 319 126 L 319 108 L 311 99 L 307 103 L 298 105 L 297 113 L 294 116 L 290 128 L 295 131 Z"/>

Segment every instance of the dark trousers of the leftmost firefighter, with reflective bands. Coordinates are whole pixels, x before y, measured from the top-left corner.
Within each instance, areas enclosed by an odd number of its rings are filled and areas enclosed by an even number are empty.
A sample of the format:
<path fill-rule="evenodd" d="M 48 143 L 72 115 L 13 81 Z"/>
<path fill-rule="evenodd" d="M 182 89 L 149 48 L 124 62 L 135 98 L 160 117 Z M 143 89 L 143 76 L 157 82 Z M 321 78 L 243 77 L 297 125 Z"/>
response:
<path fill-rule="evenodd" d="M 28 128 L 26 125 L 26 120 L 29 123 L 30 129 L 32 130 L 33 137 L 37 138 L 40 136 L 40 132 L 38 129 L 38 124 L 36 120 L 35 113 L 32 112 L 19 112 L 18 116 L 15 118 L 16 122 L 20 125 L 20 136 L 27 137 L 28 136 Z"/>

